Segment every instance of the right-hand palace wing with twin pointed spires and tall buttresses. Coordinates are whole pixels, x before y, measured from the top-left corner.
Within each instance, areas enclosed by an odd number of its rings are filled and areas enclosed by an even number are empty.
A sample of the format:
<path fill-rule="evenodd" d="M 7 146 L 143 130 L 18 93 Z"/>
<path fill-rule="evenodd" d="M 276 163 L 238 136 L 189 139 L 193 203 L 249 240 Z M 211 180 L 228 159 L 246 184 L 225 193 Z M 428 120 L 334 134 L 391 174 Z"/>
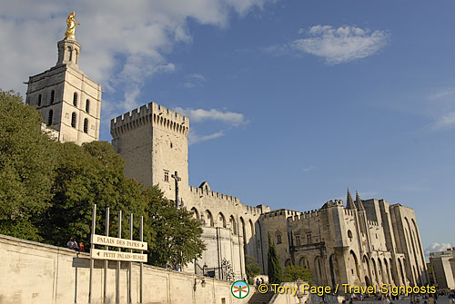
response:
<path fill-rule="evenodd" d="M 303 266 L 319 285 L 426 285 L 429 282 L 415 213 L 384 200 L 328 201 L 317 211 L 261 216 L 282 267 Z M 267 243 L 264 242 L 264 248 Z"/>

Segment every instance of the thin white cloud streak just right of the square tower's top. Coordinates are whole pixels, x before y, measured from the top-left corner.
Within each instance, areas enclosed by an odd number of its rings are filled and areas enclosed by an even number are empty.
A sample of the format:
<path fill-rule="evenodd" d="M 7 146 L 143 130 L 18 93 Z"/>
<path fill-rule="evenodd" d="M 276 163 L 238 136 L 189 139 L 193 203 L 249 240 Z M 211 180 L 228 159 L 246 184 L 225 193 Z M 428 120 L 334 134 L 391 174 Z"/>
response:
<path fill-rule="evenodd" d="M 179 107 L 177 107 L 175 111 L 187 116 L 189 118 L 189 121 L 193 123 L 217 121 L 221 123 L 227 123 L 232 126 L 238 126 L 240 124 L 247 123 L 245 120 L 245 115 L 242 113 L 221 112 L 216 109 L 182 109 Z"/>

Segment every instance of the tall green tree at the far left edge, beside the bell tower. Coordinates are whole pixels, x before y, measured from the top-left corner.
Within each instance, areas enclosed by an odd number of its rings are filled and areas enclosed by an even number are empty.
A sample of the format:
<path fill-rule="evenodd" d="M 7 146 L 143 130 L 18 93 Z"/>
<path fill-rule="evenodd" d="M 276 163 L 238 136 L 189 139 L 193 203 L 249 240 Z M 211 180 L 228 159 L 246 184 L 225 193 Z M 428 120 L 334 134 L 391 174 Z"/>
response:
<path fill-rule="evenodd" d="M 50 207 L 56 142 L 41 114 L 19 94 L 0 90 L 0 233 L 42 240 L 36 221 Z"/>

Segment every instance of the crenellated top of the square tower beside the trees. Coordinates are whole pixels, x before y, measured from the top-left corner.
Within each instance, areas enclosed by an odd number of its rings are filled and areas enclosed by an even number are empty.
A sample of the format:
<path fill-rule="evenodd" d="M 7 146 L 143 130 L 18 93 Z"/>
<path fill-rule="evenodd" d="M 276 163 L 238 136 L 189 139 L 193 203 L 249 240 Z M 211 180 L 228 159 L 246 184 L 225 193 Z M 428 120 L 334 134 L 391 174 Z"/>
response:
<path fill-rule="evenodd" d="M 189 119 L 186 116 L 157 103 L 148 103 L 112 119 L 111 135 L 116 138 L 124 132 L 148 123 L 185 136 L 189 132 Z"/>

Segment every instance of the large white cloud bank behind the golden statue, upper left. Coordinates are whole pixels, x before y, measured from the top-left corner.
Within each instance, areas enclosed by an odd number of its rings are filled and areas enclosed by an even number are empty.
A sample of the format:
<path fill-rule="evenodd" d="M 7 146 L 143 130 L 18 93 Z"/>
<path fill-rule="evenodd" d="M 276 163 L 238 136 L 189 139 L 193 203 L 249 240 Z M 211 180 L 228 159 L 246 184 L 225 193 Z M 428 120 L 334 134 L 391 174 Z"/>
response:
<path fill-rule="evenodd" d="M 167 54 L 177 43 L 191 43 L 188 19 L 226 27 L 232 11 L 247 15 L 267 2 L 273 0 L 3 1 L 0 66 L 7 73 L 0 74 L 0 84 L 24 94 L 28 76 L 56 64 L 56 42 L 75 10 L 79 66 L 106 91 L 124 91 L 125 101 L 104 100 L 103 109 L 119 114 L 136 104 L 147 77 L 174 71 Z"/>

